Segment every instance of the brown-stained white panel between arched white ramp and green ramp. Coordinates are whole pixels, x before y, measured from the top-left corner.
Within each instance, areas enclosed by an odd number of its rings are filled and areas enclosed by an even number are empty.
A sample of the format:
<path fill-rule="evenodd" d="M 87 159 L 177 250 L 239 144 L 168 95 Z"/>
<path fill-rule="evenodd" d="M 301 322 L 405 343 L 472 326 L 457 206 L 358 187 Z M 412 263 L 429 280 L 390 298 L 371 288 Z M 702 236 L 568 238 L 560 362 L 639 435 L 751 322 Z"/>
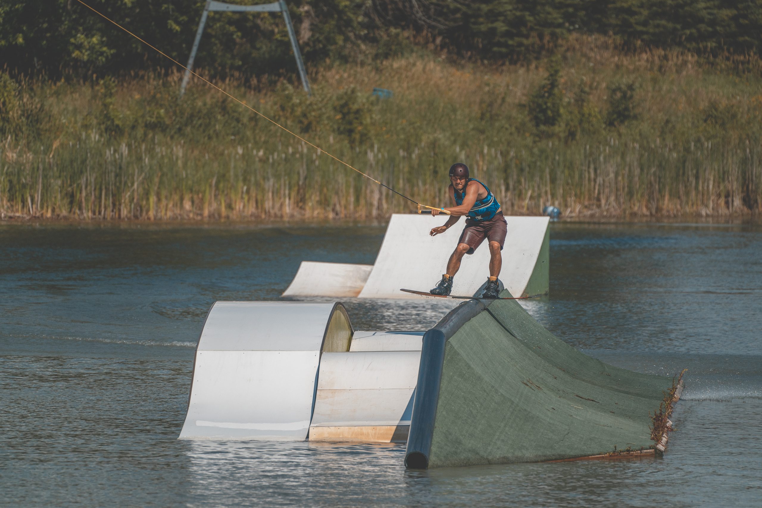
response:
<path fill-rule="evenodd" d="M 420 351 L 325 353 L 309 440 L 404 443 L 420 361 Z"/>

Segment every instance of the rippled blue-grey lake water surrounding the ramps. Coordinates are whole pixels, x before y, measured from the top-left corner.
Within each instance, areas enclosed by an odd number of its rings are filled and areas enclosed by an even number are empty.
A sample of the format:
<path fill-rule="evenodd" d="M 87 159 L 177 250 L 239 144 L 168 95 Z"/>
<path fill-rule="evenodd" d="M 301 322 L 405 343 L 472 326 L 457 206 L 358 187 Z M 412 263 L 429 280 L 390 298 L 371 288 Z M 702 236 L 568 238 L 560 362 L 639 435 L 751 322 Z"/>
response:
<path fill-rule="evenodd" d="M 209 306 L 278 299 L 301 260 L 372 264 L 384 229 L 0 224 L 0 504 L 760 506 L 759 225 L 552 225 L 530 313 L 608 363 L 689 369 L 664 458 L 406 471 L 399 445 L 178 441 Z M 344 302 L 361 330 L 452 305 Z"/>

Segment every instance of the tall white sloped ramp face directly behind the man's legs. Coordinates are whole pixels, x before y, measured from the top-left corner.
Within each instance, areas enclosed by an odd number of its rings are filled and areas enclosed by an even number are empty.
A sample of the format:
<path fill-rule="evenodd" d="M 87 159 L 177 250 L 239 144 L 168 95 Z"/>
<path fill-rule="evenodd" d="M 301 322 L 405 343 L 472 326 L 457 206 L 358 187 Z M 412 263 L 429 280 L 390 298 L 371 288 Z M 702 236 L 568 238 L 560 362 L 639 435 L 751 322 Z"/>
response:
<path fill-rule="evenodd" d="M 511 295 L 521 296 L 540 257 L 548 231 L 549 217 L 506 217 L 507 236 L 503 248 L 500 280 Z M 447 232 L 430 236 L 431 228 L 443 225 L 443 216 L 395 214 L 386 228 L 383 244 L 360 298 L 415 298 L 399 289 L 428 291 L 447 268 L 447 260 L 458 243 L 465 221 L 461 219 Z M 541 260 L 543 261 L 543 260 Z M 474 254 L 463 257 L 453 283 L 453 295 L 471 296 L 489 275 L 486 241 Z M 543 268 L 543 267 L 540 267 Z M 547 267 L 544 267 L 547 270 Z M 543 292 L 546 292 L 543 291 Z M 423 296 L 419 298 L 425 298 Z"/>

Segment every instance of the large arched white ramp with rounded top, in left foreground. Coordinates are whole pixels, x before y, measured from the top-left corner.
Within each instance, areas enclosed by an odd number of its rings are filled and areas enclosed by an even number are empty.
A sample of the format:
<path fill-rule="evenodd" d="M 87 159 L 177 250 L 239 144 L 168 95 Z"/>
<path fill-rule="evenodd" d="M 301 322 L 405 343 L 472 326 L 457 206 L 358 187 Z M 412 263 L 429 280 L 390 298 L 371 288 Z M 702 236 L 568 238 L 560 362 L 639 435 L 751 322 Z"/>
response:
<path fill-rule="evenodd" d="M 339 303 L 216 302 L 180 439 L 306 439 L 321 353 L 351 337 Z"/>

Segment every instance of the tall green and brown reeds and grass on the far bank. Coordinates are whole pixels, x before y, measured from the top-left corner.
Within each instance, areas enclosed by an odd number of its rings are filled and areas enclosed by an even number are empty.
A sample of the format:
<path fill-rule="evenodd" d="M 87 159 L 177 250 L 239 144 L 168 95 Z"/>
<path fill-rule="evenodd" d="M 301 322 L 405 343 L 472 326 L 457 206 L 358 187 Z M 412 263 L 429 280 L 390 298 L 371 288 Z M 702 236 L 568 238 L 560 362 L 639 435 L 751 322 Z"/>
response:
<path fill-rule="evenodd" d="M 196 80 L 0 72 L 0 219 L 385 219 L 415 205 Z M 576 219 L 762 210 L 762 61 L 574 36 L 485 65 L 418 52 L 288 81 L 214 81 L 376 180 L 450 206 L 455 161 L 504 212 Z M 371 94 L 386 88 L 392 97 Z"/>

